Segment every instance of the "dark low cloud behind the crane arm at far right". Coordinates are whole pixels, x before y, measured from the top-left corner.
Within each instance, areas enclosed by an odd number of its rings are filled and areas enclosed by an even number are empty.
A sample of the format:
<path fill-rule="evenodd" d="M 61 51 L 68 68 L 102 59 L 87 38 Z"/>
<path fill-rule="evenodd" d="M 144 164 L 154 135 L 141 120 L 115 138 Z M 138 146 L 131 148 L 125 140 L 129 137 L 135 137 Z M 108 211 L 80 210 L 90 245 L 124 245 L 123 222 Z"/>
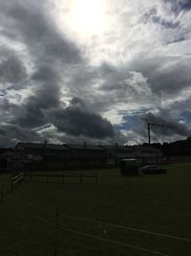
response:
<path fill-rule="evenodd" d="M 151 129 L 157 134 L 164 136 L 172 136 L 178 134 L 181 136 L 190 136 L 191 129 L 187 128 L 183 124 L 180 124 L 177 120 L 173 119 L 167 111 L 163 110 L 158 115 L 148 113 L 143 117 L 148 123 L 161 125 L 162 127 L 152 126 Z"/>

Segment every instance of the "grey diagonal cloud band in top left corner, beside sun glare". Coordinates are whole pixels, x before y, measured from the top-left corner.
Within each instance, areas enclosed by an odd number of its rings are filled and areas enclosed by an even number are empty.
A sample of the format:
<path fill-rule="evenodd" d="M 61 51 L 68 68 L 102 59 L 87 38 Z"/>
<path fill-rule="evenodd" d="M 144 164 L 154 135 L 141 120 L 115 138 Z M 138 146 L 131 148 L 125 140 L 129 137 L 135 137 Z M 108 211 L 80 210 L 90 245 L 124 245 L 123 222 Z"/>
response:
<path fill-rule="evenodd" d="M 59 73 L 60 70 L 64 72 L 70 64 L 76 64 L 83 60 L 74 42 L 59 32 L 48 9 L 48 1 L 7 1 L 7 3 L 0 3 L 0 21 L 4 26 L 7 25 L 8 31 L 13 31 L 16 34 L 16 43 L 25 45 L 25 51 L 32 58 L 32 69 L 35 70 L 36 80 L 39 83 L 44 83 L 50 79 L 57 85 L 55 73 Z M 7 22 L 7 16 L 9 16 L 9 22 Z M 27 59 L 22 59 L 22 61 L 25 63 Z M 47 68 L 42 70 L 45 63 Z M 17 71 L 21 65 L 15 66 L 14 64 L 17 63 L 12 62 L 11 69 Z M 20 72 L 17 72 L 17 75 L 14 75 L 18 77 L 19 74 Z M 35 76 L 32 79 L 35 79 Z M 22 78 L 18 77 L 18 79 L 21 80 Z M 47 87 L 50 89 L 50 86 Z"/>

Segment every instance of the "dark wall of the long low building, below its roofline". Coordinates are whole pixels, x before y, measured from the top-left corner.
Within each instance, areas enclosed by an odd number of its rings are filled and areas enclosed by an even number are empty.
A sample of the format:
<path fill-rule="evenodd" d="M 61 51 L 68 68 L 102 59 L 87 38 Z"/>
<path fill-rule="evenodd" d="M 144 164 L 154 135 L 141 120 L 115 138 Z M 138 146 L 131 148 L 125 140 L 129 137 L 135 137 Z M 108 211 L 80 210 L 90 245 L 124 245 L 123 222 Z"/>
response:
<path fill-rule="evenodd" d="M 129 149 L 89 150 L 51 150 L 25 149 L 17 147 L 14 154 L 14 167 L 18 170 L 73 170 L 118 167 L 121 159 L 137 158 L 140 165 L 159 163 L 159 152 L 145 152 Z"/>

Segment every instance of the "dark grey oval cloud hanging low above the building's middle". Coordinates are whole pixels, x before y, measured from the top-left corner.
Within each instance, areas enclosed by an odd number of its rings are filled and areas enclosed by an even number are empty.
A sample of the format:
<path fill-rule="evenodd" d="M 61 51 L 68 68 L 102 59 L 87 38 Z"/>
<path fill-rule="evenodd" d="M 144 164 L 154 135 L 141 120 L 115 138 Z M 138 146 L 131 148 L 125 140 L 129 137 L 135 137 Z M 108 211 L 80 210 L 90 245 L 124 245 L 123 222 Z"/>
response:
<path fill-rule="evenodd" d="M 80 104 L 79 104 L 80 103 Z M 112 124 L 100 115 L 88 111 L 82 101 L 76 98 L 71 105 L 65 108 L 54 108 L 49 110 L 48 119 L 59 131 L 79 136 L 84 135 L 90 138 L 113 137 Z"/>

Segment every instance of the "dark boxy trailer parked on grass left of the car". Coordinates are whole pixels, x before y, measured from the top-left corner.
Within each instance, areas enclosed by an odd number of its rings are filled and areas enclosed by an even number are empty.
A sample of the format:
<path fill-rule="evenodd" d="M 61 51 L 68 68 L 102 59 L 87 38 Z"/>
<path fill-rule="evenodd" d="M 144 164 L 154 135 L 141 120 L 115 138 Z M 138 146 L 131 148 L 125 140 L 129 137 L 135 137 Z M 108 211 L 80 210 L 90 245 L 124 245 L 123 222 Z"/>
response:
<path fill-rule="evenodd" d="M 120 173 L 124 176 L 138 175 L 138 159 L 122 159 L 119 162 Z"/>

